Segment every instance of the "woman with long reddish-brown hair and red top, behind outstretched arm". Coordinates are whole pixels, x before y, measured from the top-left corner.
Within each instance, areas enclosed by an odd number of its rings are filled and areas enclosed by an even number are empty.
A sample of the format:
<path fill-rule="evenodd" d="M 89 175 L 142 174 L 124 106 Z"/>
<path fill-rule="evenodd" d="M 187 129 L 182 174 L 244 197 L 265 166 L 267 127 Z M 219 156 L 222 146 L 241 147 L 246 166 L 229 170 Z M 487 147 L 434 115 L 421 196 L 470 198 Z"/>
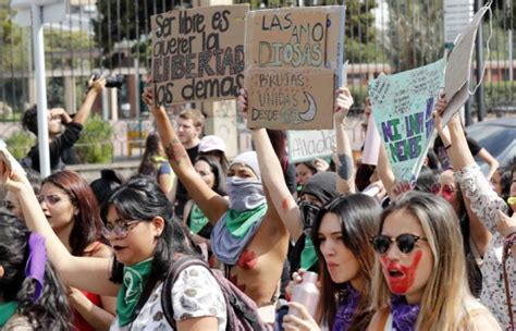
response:
<path fill-rule="evenodd" d="M 74 256 L 110 257 L 101 238 L 99 206 L 88 183 L 77 173 L 58 171 L 42 181 L 39 195 L 49 224 Z M 113 321 L 115 298 L 69 287 L 74 327 L 81 331 L 108 330 Z"/>

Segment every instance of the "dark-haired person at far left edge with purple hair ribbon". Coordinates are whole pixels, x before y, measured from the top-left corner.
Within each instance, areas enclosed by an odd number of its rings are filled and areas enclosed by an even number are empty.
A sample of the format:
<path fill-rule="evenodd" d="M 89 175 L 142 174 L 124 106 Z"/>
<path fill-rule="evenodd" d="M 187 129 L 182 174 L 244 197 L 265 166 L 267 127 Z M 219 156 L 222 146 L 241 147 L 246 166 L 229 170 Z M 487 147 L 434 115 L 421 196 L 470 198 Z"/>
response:
<path fill-rule="evenodd" d="M 45 240 L 0 211 L 0 330 L 71 330 L 70 307 Z"/>

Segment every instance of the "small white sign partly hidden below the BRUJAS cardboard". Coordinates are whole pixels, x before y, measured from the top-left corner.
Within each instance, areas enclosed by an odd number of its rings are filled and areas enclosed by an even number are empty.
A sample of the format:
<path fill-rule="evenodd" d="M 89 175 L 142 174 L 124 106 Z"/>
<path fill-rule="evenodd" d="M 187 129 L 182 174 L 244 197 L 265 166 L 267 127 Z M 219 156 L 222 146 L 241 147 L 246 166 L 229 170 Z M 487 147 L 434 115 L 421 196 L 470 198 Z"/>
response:
<path fill-rule="evenodd" d="M 287 131 L 288 160 L 293 163 L 329 157 L 335 145 L 334 130 Z"/>

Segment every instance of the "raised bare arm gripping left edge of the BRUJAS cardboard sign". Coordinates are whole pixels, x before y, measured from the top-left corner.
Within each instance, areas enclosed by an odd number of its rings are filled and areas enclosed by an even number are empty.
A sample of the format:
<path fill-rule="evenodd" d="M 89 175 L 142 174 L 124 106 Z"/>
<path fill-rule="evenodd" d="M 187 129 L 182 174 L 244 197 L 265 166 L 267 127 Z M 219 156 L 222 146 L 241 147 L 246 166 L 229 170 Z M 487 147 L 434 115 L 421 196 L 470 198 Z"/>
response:
<path fill-rule="evenodd" d="M 241 90 L 238 107 L 242 112 L 245 113 L 247 111 L 247 93 L 245 90 Z M 274 206 L 291 237 L 297 241 L 303 234 L 299 207 L 297 207 L 294 197 L 286 186 L 280 160 L 272 148 L 265 128 L 253 128 L 251 134 L 261 171 L 261 181 L 267 187 L 270 203 Z"/>

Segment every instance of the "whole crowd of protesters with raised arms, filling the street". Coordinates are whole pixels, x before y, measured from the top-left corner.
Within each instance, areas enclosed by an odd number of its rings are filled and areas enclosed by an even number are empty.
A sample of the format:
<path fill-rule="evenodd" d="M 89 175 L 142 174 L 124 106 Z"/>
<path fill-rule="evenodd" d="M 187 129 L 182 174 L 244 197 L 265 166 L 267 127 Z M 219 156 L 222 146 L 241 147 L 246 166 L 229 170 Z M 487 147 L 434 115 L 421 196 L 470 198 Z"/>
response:
<path fill-rule="evenodd" d="M 444 98 L 435 152 L 417 182 L 397 183 L 383 147 L 376 166 L 354 160 L 345 87 L 335 155 L 297 164 L 284 134 L 260 127 L 254 150 L 229 161 L 220 137 L 201 137 L 199 111 L 174 126 L 146 89 L 157 131 L 138 172 L 88 184 L 61 169 L 62 149 L 103 84 L 90 82 L 74 119 L 49 111 L 56 171 L 42 182 L 0 161 L 0 330 L 514 328 L 516 161 L 500 168 L 458 115 L 443 126 Z M 36 149 L 29 161 L 37 169 Z M 194 262 L 174 273 L 184 257 Z M 312 272 L 310 311 L 294 293 Z M 235 315 L 241 306 L 250 312 Z"/>

